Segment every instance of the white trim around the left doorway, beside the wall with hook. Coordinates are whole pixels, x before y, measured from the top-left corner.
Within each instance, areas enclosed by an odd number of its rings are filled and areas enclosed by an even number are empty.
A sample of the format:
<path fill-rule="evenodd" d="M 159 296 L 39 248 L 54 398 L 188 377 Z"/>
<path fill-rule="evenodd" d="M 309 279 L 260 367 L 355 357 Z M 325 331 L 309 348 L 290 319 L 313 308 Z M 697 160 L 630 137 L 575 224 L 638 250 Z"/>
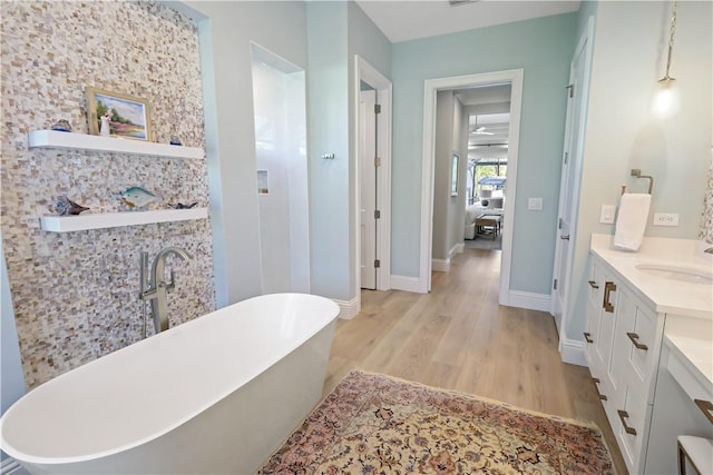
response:
<path fill-rule="evenodd" d="M 377 290 L 389 290 L 391 288 L 391 117 L 392 117 L 392 86 L 391 80 L 379 72 L 373 66 L 359 55 L 354 55 L 354 165 L 353 174 L 355 199 L 354 199 L 354 288 L 353 294 L 358 296 L 361 309 L 361 237 L 359 221 L 359 206 L 361 198 L 361 178 L 356 158 L 359 157 L 359 92 L 361 81 L 364 81 L 377 89 L 377 102 L 381 105 L 381 113 L 377 120 L 377 155 L 381 158 L 379 180 L 377 184 L 377 202 L 381 211 L 380 226 L 377 227 L 377 251 L 381 261 L 381 267 L 377 269 Z"/>

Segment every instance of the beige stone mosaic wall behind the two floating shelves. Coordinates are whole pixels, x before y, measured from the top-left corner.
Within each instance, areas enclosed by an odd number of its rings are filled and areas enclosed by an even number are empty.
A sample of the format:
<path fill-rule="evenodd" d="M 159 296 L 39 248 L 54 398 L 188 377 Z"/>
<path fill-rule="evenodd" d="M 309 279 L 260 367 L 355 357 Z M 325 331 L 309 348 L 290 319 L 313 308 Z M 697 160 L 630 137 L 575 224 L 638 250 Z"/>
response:
<path fill-rule="evenodd" d="M 28 387 L 143 338 L 139 251 L 168 260 L 178 325 L 215 307 L 208 220 L 42 231 L 60 196 L 90 212 L 127 210 L 118 194 L 143 186 L 168 204 L 208 205 L 205 160 L 81 150 L 29 150 L 27 133 L 58 119 L 87 133 L 85 87 L 146 98 L 154 140 L 204 147 L 197 30 L 152 2 L 2 1 L 1 228 Z M 88 211 L 89 212 L 89 211 Z M 146 304 L 148 305 L 148 304 Z M 153 324 L 149 321 L 149 335 Z M 167 362 L 167 364 L 170 364 Z"/>

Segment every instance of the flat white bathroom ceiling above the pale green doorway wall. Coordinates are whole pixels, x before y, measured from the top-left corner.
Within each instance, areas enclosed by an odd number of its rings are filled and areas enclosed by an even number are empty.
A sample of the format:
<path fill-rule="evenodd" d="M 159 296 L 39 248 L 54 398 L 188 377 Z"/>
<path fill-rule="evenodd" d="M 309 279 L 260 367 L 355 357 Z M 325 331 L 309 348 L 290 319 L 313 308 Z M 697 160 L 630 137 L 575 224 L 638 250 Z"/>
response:
<path fill-rule="evenodd" d="M 579 9 L 579 1 L 355 0 L 391 42 L 472 30 Z"/>

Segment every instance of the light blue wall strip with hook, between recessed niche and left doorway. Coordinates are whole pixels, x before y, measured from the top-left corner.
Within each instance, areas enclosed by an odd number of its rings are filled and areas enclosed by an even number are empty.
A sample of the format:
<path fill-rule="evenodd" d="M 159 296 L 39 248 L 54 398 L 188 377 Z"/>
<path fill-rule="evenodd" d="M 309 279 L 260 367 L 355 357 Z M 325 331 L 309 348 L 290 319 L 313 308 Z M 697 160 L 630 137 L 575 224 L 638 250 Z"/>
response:
<path fill-rule="evenodd" d="M 307 2 L 312 291 L 351 298 L 348 7 Z M 324 154 L 334 159 L 324 160 Z"/>

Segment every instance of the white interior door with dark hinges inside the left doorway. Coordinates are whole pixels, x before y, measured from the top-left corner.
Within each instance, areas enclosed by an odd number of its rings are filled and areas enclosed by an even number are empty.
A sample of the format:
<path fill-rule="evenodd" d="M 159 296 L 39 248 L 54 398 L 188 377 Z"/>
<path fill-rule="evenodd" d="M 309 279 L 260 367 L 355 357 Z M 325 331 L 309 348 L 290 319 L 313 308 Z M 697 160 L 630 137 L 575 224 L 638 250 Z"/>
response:
<path fill-rule="evenodd" d="M 359 220 L 361 232 L 361 288 L 377 288 L 377 91 L 360 92 L 359 166 L 361 192 Z"/>

